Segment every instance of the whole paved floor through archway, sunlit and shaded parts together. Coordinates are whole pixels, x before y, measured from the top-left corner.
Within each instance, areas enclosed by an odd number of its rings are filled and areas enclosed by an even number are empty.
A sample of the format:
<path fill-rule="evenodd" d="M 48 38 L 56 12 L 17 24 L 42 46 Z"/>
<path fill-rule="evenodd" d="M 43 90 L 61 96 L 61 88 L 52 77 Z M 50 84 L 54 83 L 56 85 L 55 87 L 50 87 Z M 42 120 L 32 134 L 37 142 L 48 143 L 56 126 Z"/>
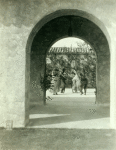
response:
<path fill-rule="evenodd" d="M 109 129 L 109 106 L 95 104 L 94 90 L 87 95 L 72 93 L 66 89 L 65 94 L 52 95 L 46 106 L 35 106 L 30 111 L 28 128 L 78 128 Z"/>

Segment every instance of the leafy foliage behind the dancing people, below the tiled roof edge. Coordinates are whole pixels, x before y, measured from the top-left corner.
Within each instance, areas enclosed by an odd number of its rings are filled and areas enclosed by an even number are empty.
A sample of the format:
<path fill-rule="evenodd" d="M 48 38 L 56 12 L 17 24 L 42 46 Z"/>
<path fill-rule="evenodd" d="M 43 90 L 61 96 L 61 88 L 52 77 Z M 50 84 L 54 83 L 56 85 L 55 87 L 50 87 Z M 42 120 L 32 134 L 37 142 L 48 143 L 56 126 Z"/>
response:
<path fill-rule="evenodd" d="M 67 74 L 67 86 L 72 82 L 72 73 L 74 71 L 79 75 L 85 75 L 89 81 L 89 87 L 96 87 L 96 55 L 48 55 L 50 63 L 46 64 L 46 74 L 51 75 L 54 68 L 61 71 L 63 68 Z"/>

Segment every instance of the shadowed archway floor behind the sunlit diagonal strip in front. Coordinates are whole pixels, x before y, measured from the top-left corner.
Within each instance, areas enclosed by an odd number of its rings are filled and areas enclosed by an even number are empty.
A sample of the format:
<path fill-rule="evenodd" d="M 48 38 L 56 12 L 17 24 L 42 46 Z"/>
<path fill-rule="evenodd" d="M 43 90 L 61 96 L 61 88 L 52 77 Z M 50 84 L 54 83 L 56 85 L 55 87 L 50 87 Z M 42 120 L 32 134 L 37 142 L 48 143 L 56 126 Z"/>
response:
<path fill-rule="evenodd" d="M 46 106 L 38 105 L 31 108 L 28 126 L 74 123 L 109 117 L 109 106 L 96 105 L 94 97 L 55 97 L 47 101 Z"/>

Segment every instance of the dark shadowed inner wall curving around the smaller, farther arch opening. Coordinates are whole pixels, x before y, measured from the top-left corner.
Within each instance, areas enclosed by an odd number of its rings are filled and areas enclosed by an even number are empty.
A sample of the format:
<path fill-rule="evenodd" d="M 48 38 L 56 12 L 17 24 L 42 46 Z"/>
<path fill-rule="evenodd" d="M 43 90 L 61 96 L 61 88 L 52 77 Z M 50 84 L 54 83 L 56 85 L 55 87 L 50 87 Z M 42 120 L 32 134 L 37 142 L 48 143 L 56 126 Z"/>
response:
<path fill-rule="evenodd" d="M 68 11 L 67 11 L 68 12 Z M 94 47 L 97 54 L 97 103 L 110 102 L 110 50 L 108 42 L 103 32 L 88 19 L 79 16 L 63 16 L 49 21 L 36 34 L 31 51 L 31 61 L 34 65 L 31 66 L 30 86 L 33 82 L 37 83 L 38 88 L 30 90 L 31 102 L 41 101 L 41 88 L 38 76 L 42 73 L 41 68 L 44 68 L 46 53 L 51 44 L 59 38 L 68 37 L 70 27 L 70 18 L 72 20 L 72 36 L 79 36 L 86 39 Z M 41 59 L 38 57 L 40 56 Z M 42 57 L 44 59 L 42 60 Z M 43 65 L 42 65 L 43 62 Z M 36 69 L 36 67 L 38 69 Z M 36 71 L 34 71 L 36 70 Z M 36 93 L 35 93 L 36 92 Z M 38 95 L 38 96 L 37 96 Z M 36 96 L 36 97 L 35 97 Z"/>

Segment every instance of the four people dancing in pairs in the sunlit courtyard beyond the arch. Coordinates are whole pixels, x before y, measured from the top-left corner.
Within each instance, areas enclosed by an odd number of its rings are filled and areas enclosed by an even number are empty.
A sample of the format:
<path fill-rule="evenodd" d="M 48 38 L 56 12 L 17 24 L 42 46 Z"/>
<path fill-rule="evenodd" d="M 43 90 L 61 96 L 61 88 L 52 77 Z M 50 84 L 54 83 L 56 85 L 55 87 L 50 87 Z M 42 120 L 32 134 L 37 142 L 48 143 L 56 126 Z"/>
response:
<path fill-rule="evenodd" d="M 80 94 L 86 95 L 88 80 L 85 75 L 78 75 L 76 71 L 73 71 L 74 77 L 72 78 L 72 92 L 80 92 Z M 52 92 L 53 95 L 58 95 L 58 92 L 65 92 L 66 85 L 66 72 L 65 69 L 62 69 L 60 72 L 58 69 L 55 69 L 52 72 Z M 83 92 L 84 89 L 84 92 Z"/>

